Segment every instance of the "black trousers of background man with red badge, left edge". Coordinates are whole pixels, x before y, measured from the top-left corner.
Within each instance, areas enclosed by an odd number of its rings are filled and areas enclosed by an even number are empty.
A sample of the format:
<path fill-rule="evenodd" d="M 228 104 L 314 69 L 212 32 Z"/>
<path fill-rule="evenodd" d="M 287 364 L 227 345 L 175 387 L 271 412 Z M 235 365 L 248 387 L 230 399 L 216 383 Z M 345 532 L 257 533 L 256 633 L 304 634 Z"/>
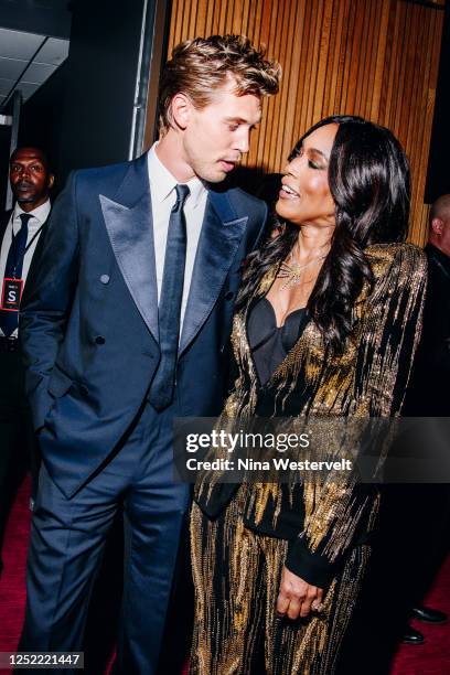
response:
<path fill-rule="evenodd" d="M 20 352 L 0 352 L 0 553 L 19 485 L 38 472 L 36 450 Z"/>

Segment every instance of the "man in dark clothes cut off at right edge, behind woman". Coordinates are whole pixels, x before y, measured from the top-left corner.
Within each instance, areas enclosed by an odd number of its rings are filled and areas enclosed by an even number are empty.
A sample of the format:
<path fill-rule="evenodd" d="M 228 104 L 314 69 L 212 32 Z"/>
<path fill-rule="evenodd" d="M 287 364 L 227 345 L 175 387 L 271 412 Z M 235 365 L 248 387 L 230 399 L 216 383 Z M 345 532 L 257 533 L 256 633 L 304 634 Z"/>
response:
<path fill-rule="evenodd" d="M 450 417 L 450 194 L 431 206 L 430 232 L 425 247 L 428 258 L 428 286 L 424 328 L 406 393 L 405 417 Z M 439 424 L 433 425 L 435 430 Z M 432 435 L 429 435 L 432 442 Z M 450 450 L 450 439 L 446 439 Z M 439 461 L 439 458 L 438 460 Z M 427 623 L 442 623 L 447 615 L 422 606 L 439 562 L 448 550 L 450 531 L 450 486 L 443 484 L 405 485 L 403 504 L 409 557 L 403 575 L 405 604 L 411 617 Z M 404 506 L 403 506 L 404 507 Z M 420 533 L 420 545 L 417 545 Z M 424 635 L 407 625 L 404 642 L 420 644 Z"/>

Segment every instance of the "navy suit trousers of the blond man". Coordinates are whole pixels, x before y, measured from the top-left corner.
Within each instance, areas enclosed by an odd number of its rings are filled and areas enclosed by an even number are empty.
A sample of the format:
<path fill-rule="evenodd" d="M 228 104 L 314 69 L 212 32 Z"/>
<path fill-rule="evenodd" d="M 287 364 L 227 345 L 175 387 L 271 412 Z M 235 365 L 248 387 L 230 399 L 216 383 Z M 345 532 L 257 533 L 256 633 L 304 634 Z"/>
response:
<path fill-rule="evenodd" d="M 172 480 L 173 415 L 173 408 L 159 415 L 147 404 L 120 451 L 69 500 L 42 468 L 20 651 L 83 651 L 95 574 L 122 503 L 125 574 L 116 668 L 127 675 L 156 672 L 189 505 L 188 485 Z"/>

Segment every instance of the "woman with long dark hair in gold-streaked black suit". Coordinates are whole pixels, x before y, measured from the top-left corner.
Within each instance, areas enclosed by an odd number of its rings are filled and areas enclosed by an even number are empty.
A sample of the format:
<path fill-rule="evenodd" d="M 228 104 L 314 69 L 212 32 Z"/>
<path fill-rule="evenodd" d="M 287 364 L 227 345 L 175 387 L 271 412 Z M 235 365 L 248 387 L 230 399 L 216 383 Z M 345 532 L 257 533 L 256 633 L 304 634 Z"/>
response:
<path fill-rule="evenodd" d="M 385 128 L 338 116 L 286 167 L 278 236 L 237 301 L 222 416 L 393 417 L 420 331 L 426 259 L 405 244 L 409 168 Z M 221 428 L 221 419 L 218 422 Z M 330 675 L 371 551 L 374 485 L 196 485 L 195 675 Z"/>

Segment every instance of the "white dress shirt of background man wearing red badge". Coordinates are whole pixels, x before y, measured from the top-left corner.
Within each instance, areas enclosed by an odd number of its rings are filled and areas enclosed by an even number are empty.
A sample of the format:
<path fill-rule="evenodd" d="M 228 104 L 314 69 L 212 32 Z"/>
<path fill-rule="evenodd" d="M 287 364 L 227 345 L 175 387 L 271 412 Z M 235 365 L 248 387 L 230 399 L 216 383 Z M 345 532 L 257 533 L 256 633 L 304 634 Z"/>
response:
<path fill-rule="evenodd" d="M 47 200 L 46 202 L 44 202 L 44 204 L 41 204 L 41 206 L 38 206 L 38 208 L 34 208 L 34 211 L 30 211 L 29 213 L 29 215 L 31 215 L 32 217 L 30 218 L 29 226 L 28 226 L 26 246 L 33 239 L 34 235 L 36 233 L 39 234 L 33 240 L 33 243 L 31 244 L 30 248 L 26 250 L 24 258 L 23 258 L 23 267 L 22 267 L 22 275 L 21 275 L 23 279 L 23 286 L 26 282 L 26 277 L 30 270 L 31 260 L 33 259 L 34 251 L 36 249 L 36 245 L 41 236 L 41 233 L 39 231 L 42 227 L 42 225 L 45 223 L 45 221 L 47 219 L 50 210 L 51 210 L 51 204 L 50 204 L 50 200 Z M 10 221 L 4 231 L 3 240 L 1 243 L 0 281 L 1 281 L 2 287 L 3 287 L 3 278 L 4 278 L 4 268 L 7 267 L 7 259 L 8 259 L 8 253 L 11 246 L 12 234 L 14 234 L 15 236 L 19 229 L 22 227 L 22 221 L 20 219 L 20 215 L 22 213 L 25 213 L 25 212 L 19 206 L 19 204 L 15 204 L 14 210 L 11 213 Z M 0 329 L 0 335 L 3 335 L 1 329 Z M 17 335 L 18 335 L 18 331 L 15 330 L 12 333 L 12 336 L 17 338 Z"/>

